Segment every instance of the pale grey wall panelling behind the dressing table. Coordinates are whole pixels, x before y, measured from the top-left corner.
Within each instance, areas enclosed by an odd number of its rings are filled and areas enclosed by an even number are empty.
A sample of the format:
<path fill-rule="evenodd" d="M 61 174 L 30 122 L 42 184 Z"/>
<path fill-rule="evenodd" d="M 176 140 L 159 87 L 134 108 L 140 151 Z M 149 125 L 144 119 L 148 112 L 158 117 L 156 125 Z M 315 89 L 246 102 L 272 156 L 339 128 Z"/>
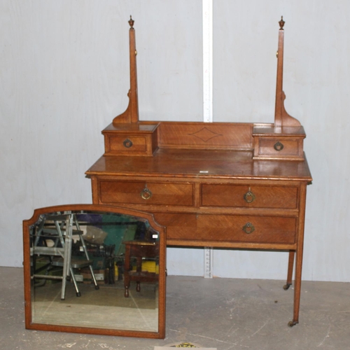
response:
<path fill-rule="evenodd" d="M 278 21 L 286 109 L 307 132 L 303 279 L 350 281 L 347 0 L 214 1 L 214 121 L 272 122 Z M 34 208 L 90 203 L 85 171 L 127 106 L 127 20 L 142 120 L 202 120 L 201 0 L 0 0 L 0 266 L 22 265 Z M 214 251 L 214 275 L 284 279 L 287 253 Z M 170 248 L 169 274 L 203 274 Z"/>

